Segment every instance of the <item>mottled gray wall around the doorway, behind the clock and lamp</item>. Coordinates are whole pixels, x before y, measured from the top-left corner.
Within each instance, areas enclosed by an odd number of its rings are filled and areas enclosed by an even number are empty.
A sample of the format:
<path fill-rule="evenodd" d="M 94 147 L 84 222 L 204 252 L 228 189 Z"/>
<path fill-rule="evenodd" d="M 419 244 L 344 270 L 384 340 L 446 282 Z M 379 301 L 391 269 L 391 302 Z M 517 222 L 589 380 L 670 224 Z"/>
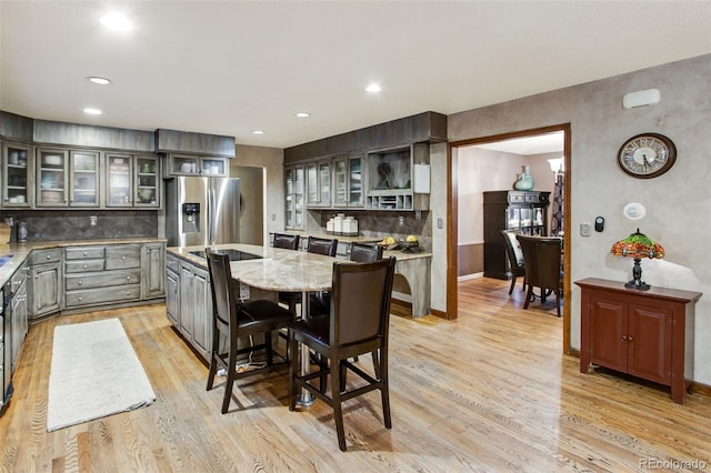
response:
<path fill-rule="evenodd" d="M 655 88 L 657 105 L 627 110 L 622 97 Z M 489 137 L 517 130 L 571 123 L 571 281 L 603 278 L 627 281 L 631 259 L 610 254 L 612 244 L 640 230 L 661 243 L 663 260 L 642 262 L 643 279 L 652 284 L 704 292 L 697 303 L 693 380 L 711 384 L 711 259 L 705 253 L 711 234 L 711 54 L 635 71 L 604 80 L 469 110 L 449 117 L 449 140 Z M 659 132 L 677 144 L 675 165 L 665 174 L 633 179 L 619 170 L 617 153 L 630 137 Z M 432 182 L 445 192 L 445 159 L 433 160 Z M 439 185 L 437 184 L 439 182 Z M 433 222 L 445 218 L 445 202 L 434 193 Z M 629 202 L 640 202 L 647 217 L 622 214 Z M 581 222 L 605 218 L 602 233 L 580 236 Z M 435 223 L 434 223 L 435 224 Z M 433 229 L 433 281 L 444 281 L 445 231 Z M 445 288 L 432 284 L 433 309 L 445 309 Z M 580 291 L 573 284 L 571 345 L 580 348 Z M 688 373 L 690 375 L 691 373 Z"/>

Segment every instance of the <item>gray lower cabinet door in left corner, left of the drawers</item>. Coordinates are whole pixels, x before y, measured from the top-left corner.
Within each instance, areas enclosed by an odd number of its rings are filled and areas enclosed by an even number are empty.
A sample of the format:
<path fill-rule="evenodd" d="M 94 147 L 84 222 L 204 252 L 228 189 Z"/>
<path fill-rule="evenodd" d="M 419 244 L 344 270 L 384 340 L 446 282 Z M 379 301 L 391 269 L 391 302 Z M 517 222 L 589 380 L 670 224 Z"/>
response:
<path fill-rule="evenodd" d="M 34 250 L 29 268 L 29 318 L 38 319 L 61 309 L 62 252 L 59 248 Z"/>

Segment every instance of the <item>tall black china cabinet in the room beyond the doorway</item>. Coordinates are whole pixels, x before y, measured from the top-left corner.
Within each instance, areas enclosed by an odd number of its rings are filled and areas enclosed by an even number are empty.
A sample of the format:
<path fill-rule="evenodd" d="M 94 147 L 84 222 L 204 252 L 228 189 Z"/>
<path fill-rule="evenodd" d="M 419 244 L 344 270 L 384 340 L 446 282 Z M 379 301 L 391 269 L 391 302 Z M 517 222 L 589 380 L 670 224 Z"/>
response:
<path fill-rule="evenodd" d="M 518 231 L 524 235 L 548 235 L 550 192 L 484 192 L 484 276 L 511 276 L 507 250 L 499 233 Z"/>

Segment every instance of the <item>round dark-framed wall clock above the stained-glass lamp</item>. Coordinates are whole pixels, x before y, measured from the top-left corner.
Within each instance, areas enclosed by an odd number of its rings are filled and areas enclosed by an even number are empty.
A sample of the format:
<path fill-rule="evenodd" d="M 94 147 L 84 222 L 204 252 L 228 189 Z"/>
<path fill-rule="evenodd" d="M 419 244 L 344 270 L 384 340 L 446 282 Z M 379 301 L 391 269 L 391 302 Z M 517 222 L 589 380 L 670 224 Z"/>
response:
<path fill-rule="evenodd" d="M 677 148 L 667 137 L 643 133 L 632 137 L 620 148 L 618 164 L 633 178 L 655 178 L 669 171 L 677 159 Z"/>

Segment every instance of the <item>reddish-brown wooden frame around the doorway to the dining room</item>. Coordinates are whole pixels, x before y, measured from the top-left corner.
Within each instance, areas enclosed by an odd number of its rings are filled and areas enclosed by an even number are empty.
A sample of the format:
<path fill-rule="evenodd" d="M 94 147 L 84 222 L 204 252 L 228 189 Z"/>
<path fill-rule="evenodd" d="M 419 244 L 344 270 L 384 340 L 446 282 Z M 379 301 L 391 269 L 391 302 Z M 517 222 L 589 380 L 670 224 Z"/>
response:
<path fill-rule="evenodd" d="M 571 132 L 570 123 L 561 123 L 542 128 L 534 128 L 520 131 L 511 131 L 502 134 L 494 134 L 467 140 L 451 141 L 447 143 L 447 319 L 454 320 L 458 314 L 458 244 L 459 244 L 459 219 L 458 219 L 458 190 L 457 179 L 458 153 L 462 147 L 491 143 L 494 141 L 510 140 L 513 138 L 525 138 L 535 134 L 545 134 L 554 131 L 563 132 L 563 155 L 565 169 L 563 179 L 565 187 L 563 190 L 563 353 L 570 354 L 570 195 L 571 195 Z"/>

